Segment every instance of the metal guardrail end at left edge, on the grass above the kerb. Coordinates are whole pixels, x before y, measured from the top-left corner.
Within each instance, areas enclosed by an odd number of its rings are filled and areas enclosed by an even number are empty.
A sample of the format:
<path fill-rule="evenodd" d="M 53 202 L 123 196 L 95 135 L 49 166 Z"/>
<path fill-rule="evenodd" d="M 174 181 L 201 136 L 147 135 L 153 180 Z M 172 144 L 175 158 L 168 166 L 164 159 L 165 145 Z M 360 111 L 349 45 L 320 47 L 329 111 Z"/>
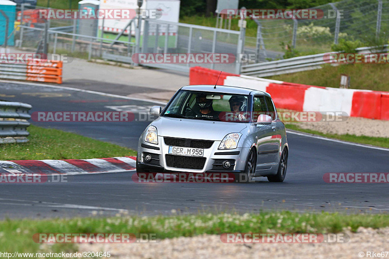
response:
<path fill-rule="evenodd" d="M 30 104 L 0 102 L 0 144 L 28 142 L 31 108 Z"/>

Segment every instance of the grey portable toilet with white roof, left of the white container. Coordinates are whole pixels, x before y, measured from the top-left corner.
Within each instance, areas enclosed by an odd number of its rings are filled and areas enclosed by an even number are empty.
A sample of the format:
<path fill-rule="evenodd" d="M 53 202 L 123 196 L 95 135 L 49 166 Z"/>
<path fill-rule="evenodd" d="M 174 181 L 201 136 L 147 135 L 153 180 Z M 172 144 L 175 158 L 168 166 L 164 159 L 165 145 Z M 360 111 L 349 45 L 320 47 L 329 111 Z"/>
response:
<path fill-rule="evenodd" d="M 82 0 L 78 2 L 78 10 L 88 12 L 94 12 L 97 14 L 100 6 L 99 0 Z M 98 31 L 98 19 L 78 19 L 77 21 L 77 34 L 97 36 Z"/>

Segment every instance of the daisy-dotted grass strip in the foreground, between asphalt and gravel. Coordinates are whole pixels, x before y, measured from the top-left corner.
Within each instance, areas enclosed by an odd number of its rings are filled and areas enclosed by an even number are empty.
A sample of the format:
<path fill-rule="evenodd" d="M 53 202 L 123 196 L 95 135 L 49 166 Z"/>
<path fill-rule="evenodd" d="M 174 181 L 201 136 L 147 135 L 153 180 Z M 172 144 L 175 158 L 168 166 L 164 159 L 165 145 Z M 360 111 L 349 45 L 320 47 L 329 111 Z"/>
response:
<path fill-rule="evenodd" d="M 295 213 L 197 214 L 174 216 L 127 216 L 114 218 L 73 218 L 50 220 L 5 220 L 0 222 L 1 250 L 18 252 L 76 251 L 74 244 L 40 247 L 35 233 L 133 233 L 155 234 L 157 239 L 192 237 L 201 234 L 238 233 L 337 233 L 351 227 L 389 226 L 387 214 Z M 43 250 L 43 251 L 42 251 Z M 94 251 L 97 252 L 97 251 Z"/>

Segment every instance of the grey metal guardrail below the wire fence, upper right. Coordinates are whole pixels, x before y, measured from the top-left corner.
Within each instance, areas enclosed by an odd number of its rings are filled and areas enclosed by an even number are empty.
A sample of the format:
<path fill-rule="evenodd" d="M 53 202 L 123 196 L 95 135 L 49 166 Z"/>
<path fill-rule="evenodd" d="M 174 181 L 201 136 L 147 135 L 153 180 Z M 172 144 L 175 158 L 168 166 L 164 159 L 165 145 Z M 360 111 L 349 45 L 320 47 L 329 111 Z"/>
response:
<path fill-rule="evenodd" d="M 382 47 L 362 47 L 355 49 L 358 53 L 371 53 L 377 50 L 381 52 L 388 51 L 388 45 Z M 327 52 L 314 55 L 307 55 L 301 57 L 294 57 L 288 59 L 281 59 L 276 61 L 256 63 L 242 66 L 242 74 L 251 76 L 272 76 L 281 75 L 287 73 L 295 73 L 306 70 L 321 69 L 320 65 L 329 63 L 328 53 L 338 52 Z"/>

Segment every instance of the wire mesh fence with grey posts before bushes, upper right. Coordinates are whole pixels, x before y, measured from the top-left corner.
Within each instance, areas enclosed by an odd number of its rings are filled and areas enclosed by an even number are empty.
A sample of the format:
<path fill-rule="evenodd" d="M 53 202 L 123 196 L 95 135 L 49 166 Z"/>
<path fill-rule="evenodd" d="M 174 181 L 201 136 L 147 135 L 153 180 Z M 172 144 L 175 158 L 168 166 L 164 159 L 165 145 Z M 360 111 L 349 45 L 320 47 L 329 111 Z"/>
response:
<path fill-rule="evenodd" d="M 330 52 L 331 45 L 340 39 L 360 40 L 363 46 L 388 43 L 389 0 L 343 0 L 312 9 L 321 9 L 324 17 L 260 20 L 262 35 L 257 38 L 262 36 L 264 45 L 261 49 L 285 52 L 291 47 L 300 55 L 307 55 Z M 256 39 L 249 40 L 254 42 Z M 262 54 L 259 58 L 265 61 L 266 56 Z"/>

